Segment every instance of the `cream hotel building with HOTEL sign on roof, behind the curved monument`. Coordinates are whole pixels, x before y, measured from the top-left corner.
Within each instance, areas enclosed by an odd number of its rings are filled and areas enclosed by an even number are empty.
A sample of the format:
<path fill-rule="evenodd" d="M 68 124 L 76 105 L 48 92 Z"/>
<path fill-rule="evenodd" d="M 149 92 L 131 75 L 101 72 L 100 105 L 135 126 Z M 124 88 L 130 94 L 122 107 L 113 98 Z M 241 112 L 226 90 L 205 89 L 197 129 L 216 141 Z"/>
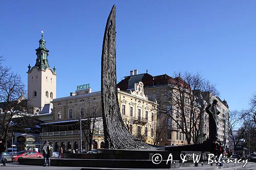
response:
<path fill-rule="evenodd" d="M 118 90 L 123 122 L 132 135 L 146 143 L 154 144 L 157 104 L 147 100 L 142 82 L 134 86 L 135 89 L 129 92 Z M 42 124 L 42 141 L 48 140 L 52 143 L 55 151 L 60 147 L 65 151 L 80 150 L 81 114 L 82 122 L 90 117 L 90 131 L 93 129 L 92 149 L 104 147 L 100 91 L 92 92 L 91 88 L 76 90 L 75 93 L 71 92 L 70 96 L 54 99 L 52 104 L 52 119 Z M 82 150 L 88 151 L 90 147 L 84 131 L 87 129 L 82 127 Z"/>

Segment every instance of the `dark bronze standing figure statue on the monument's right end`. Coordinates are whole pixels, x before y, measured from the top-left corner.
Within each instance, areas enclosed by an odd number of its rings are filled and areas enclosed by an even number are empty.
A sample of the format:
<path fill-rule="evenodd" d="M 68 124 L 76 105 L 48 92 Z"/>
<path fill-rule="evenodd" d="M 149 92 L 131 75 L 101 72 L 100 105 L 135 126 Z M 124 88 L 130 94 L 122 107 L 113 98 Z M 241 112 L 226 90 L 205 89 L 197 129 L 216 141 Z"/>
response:
<path fill-rule="evenodd" d="M 212 104 L 205 108 L 206 113 L 209 114 L 209 138 L 217 140 L 217 122 L 220 111 L 217 109 L 217 100 L 214 100 Z"/>

